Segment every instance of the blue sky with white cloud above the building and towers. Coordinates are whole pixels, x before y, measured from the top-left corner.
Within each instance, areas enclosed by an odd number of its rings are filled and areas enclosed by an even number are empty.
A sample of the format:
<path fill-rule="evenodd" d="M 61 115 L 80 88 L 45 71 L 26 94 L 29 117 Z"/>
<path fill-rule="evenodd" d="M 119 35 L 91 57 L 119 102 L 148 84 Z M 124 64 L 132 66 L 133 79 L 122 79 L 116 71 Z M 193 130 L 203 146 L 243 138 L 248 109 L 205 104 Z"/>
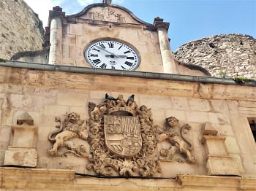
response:
<path fill-rule="evenodd" d="M 44 25 L 48 10 L 59 5 L 66 15 L 102 0 L 25 0 Z M 181 44 L 216 34 L 248 34 L 256 38 L 256 0 L 113 0 L 141 20 L 153 23 L 162 17 L 170 23 L 168 36 L 173 52 Z"/>

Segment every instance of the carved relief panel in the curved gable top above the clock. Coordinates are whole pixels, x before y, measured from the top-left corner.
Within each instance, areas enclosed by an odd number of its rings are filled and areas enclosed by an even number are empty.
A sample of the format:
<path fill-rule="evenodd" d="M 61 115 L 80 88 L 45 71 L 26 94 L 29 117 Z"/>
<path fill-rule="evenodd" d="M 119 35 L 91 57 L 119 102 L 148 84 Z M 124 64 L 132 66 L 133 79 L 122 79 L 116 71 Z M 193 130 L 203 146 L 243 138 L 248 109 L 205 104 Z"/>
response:
<path fill-rule="evenodd" d="M 89 17 L 91 17 L 93 20 L 126 23 L 125 17 L 123 17 L 121 13 L 116 12 L 115 9 L 111 9 L 110 7 L 105 7 L 99 10 L 95 10 L 94 12 L 89 12 Z"/>

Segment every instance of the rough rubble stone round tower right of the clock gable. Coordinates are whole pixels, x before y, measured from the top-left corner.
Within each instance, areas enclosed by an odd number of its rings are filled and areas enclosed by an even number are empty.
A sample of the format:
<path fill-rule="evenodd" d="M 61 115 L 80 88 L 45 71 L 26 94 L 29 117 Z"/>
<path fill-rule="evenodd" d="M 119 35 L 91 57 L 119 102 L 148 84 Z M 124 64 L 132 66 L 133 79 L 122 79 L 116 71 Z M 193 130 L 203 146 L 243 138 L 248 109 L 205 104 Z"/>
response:
<path fill-rule="evenodd" d="M 256 43 L 252 36 L 222 34 L 183 44 L 174 52 L 181 62 L 207 69 L 212 76 L 256 78 Z"/>

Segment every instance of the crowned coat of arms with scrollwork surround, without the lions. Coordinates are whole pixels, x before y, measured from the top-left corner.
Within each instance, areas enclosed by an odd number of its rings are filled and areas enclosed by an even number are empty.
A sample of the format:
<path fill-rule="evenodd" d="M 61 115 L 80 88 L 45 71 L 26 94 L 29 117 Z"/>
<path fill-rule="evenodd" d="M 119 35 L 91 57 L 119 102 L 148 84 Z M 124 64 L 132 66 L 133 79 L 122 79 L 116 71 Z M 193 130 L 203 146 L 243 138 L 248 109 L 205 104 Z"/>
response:
<path fill-rule="evenodd" d="M 116 100 L 108 95 L 102 104 L 90 103 L 89 113 L 88 169 L 105 176 L 153 176 L 159 171 L 151 109 L 138 107 L 134 95 L 127 101 L 123 95 Z"/>

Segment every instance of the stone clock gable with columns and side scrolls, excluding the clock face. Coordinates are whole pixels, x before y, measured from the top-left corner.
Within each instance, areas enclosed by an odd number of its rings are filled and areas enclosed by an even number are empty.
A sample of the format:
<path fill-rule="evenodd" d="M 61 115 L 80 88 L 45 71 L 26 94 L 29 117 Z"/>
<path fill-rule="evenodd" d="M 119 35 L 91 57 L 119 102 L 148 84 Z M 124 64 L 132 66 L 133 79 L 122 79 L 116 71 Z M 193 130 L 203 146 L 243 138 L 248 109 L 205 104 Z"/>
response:
<path fill-rule="evenodd" d="M 168 27 L 169 23 L 159 17 L 152 25 L 114 4 L 91 4 L 78 14 L 67 16 L 61 7 L 53 7 L 49 27 L 45 28 L 45 49 L 18 52 L 11 59 L 91 68 L 84 58 L 86 47 L 91 42 L 110 39 L 138 50 L 140 66 L 135 71 L 211 76 L 206 69 L 181 63 L 173 56 Z"/>

